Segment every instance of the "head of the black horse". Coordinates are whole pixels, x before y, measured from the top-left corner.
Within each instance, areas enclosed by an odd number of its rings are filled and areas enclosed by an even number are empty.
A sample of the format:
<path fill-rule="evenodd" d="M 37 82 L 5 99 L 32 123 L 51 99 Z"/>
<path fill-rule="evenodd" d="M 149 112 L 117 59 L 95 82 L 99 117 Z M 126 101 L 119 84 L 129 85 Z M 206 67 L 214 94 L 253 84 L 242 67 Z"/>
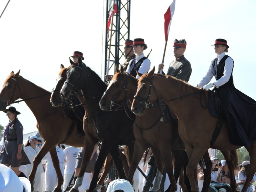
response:
<path fill-rule="evenodd" d="M 78 64 L 75 64 L 69 58 L 71 66 L 66 71 L 66 81 L 60 90 L 61 97 L 65 100 L 70 99 L 75 94 L 77 89 L 80 89 L 81 84 L 85 80 L 85 67 L 82 63 L 82 58 L 79 56 Z"/>

